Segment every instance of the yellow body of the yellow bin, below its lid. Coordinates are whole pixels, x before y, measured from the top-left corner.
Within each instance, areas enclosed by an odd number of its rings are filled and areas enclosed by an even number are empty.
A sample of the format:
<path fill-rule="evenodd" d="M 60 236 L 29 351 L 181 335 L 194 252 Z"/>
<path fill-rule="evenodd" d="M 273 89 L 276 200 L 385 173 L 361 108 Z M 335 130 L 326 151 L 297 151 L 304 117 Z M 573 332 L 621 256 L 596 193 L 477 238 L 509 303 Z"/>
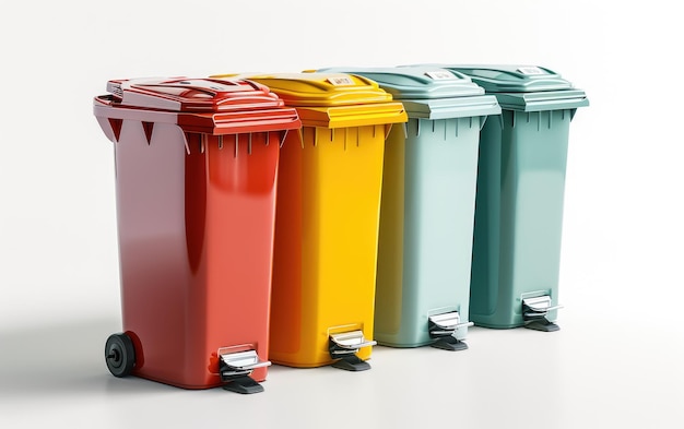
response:
<path fill-rule="evenodd" d="M 279 174 L 270 359 L 331 364 L 332 333 L 373 338 L 385 126 L 305 127 Z M 370 347 L 357 356 L 367 359 Z"/>

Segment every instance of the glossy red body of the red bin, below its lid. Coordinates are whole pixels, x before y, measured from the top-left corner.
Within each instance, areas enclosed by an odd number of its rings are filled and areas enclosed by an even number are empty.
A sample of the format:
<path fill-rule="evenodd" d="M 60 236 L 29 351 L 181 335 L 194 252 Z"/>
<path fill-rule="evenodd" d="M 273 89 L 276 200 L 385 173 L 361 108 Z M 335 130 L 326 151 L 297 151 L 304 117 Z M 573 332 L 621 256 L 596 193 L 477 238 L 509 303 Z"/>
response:
<path fill-rule="evenodd" d="M 237 151 L 234 135 L 220 148 L 219 136 L 157 123 L 148 143 L 140 121 L 122 123 L 121 297 L 140 377 L 204 389 L 222 384 L 219 348 L 268 359 L 279 135 L 237 139 Z M 263 380 L 266 368 L 252 378 Z"/>

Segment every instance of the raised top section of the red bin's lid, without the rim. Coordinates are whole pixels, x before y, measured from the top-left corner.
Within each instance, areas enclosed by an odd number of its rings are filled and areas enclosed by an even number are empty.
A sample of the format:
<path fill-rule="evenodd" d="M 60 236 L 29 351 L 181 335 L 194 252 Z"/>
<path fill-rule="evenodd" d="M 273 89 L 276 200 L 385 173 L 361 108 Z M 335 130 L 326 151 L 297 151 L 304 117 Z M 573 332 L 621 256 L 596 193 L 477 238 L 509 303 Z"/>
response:
<path fill-rule="evenodd" d="M 256 82 L 229 79 L 135 79 L 107 82 L 113 105 L 178 112 L 282 107 L 283 100 Z"/>

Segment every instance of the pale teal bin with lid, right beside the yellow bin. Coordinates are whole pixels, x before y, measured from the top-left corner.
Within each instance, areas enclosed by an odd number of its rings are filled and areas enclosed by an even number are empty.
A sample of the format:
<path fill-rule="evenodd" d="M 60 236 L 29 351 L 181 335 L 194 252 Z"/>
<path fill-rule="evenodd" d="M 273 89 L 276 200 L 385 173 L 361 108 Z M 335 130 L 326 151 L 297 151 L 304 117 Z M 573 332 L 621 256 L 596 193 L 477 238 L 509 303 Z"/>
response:
<path fill-rule="evenodd" d="M 393 347 L 468 348 L 480 130 L 496 97 L 434 67 L 332 68 L 402 102 L 409 122 L 387 139 L 374 338 Z"/>

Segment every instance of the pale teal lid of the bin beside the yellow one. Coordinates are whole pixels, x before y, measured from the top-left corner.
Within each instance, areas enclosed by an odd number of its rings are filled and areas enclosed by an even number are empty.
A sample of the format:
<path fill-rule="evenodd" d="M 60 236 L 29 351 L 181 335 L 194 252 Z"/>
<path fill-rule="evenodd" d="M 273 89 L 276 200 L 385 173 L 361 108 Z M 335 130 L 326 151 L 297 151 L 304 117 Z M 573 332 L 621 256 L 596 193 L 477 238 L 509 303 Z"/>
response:
<path fill-rule="evenodd" d="M 375 81 L 396 100 L 402 102 L 411 118 L 445 119 L 498 115 L 496 98 L 468 75 L 432 65 L 402 68 L 335 67 L 317 72 L 340 72 Z"/>

